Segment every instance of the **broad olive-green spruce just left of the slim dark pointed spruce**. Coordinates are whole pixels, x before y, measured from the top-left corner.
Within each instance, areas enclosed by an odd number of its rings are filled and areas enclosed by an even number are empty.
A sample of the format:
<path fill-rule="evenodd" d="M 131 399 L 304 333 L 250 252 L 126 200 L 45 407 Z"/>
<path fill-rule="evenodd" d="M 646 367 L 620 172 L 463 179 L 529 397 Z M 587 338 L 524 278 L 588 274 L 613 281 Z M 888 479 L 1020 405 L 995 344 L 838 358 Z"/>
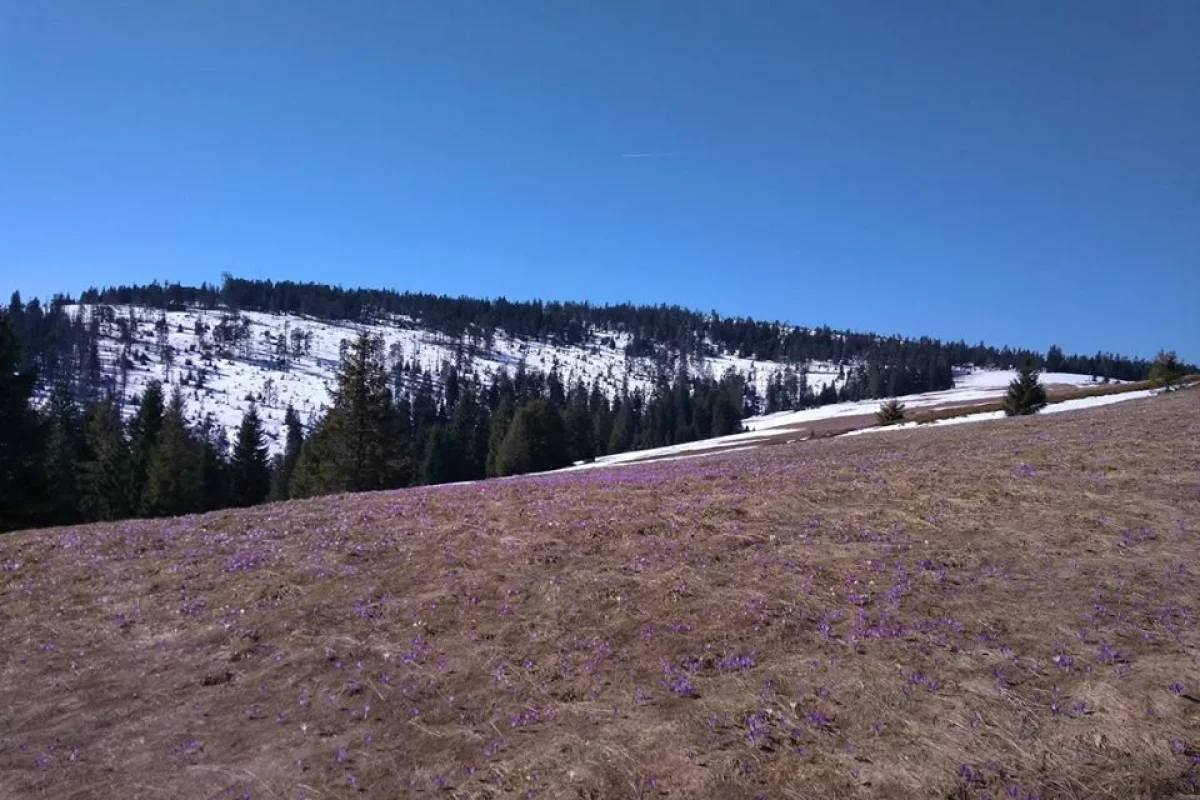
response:
<path fill-rule="evenodd" d="M 150 453 L 146 488 L 138 510 L 149 517 L 199 511 L 203 489 L 203 450 L 187 429 L 184 396 L 176 387 Z"/>

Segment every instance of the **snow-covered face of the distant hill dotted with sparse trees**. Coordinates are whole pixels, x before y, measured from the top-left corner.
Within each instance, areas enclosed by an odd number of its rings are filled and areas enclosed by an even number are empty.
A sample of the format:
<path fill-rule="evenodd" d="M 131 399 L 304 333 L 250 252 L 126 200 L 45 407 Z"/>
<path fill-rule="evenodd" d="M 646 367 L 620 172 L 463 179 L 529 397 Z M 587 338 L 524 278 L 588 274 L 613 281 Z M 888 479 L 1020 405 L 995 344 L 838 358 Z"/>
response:
<path fill-rule="evenodd" d="M 264 420 L 271 450 L 282 447 L 280 431 L 288 404 L 305 422 L 313 421 L 330 402 L 343 341 L 360 331 L 383 338 L 392 362 L 416 362 L 434 374 L 450 362 L 463 374 L 474 373 L 485 384 L 502 368 L 548 373 L 557 367 L 565 385 L 582 379 L 588 386 L 599 381 L 610 396 L 641 387 L 649 392 L 656 366 L 650 359 L 628 359 L 622 332 L 595 331 L 582 347 L 523 339 L 498 332 L 492 342 L 450 338 L 424 330 L 412 320 L 360 325 L 259 312 L 187 309 L 163 312 L 139 306 L 71 306 L 70 314 L 100 320 L 100 360 L 132 414 L 130 401 L 150 380 L 163 381 L 184 392 L 188 417 L 198 422 L 205 415 L 233 437 L 251 401 Z M 125 365 L 122 369 L 121 365 Z M 692 374 L 719 378 L 728 369 L 754 384 L 760 396 L 776 373 L 799 368 L 772 361 L 754 361 L 736 355 L 689 359 Z M 815 391 L 824 384 L 841 385 L 838 365 L 810 362 L 808 383 Z"/>

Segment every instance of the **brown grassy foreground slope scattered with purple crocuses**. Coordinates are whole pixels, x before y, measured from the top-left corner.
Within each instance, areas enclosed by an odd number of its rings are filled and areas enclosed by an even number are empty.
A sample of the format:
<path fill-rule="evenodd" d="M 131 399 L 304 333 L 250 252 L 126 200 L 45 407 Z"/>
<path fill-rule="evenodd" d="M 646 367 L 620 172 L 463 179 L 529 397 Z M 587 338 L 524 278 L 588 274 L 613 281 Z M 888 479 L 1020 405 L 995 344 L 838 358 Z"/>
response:
<path fill-rule="evenodd" d="M 1198 545 L 1200 391 L 10 535 L 0 796 L 1171 796 Z"/>

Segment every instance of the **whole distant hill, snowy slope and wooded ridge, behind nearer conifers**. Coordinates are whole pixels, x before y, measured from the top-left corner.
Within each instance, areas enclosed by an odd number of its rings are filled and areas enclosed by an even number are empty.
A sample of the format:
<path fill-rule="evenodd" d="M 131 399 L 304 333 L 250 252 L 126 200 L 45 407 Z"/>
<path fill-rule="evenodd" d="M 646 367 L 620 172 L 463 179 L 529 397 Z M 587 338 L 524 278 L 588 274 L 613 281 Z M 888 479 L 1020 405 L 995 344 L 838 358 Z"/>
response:
<path fill-rule="evenodd" d="M 306 428 L 328 411 L 343 344 L 360 333 L 383 343 L 397 403 L 407 397 L 446 416 L 454 410 L 448 395 L 457 393 L 449 384 L 490 387 L 502 375 L 530 378 L 517 380 L 521 399 L 545 395 L 562 410 L 578 386 L 592 395 L 589 411 L 600 393 L 610 403 L 634 401 L 638 415 L 656 395 L 697 395 L 701 383 L 710 391 L 728 381 L 738 415 L 751 416 L 946 391 L 973 368 L 1004 369 L 1028 360 L 1066 375 L 1063 383 L 1141 380 L 1150 369 L 1145 360 L 1115 354 L 1066 355 L 1050 347 L 1043 356 L 982 342 L 722 318 L 677 306 L 514 302 L 230 275 L 220 288 L 89 288 L 78 302 L 59 296 L 44 306 L 14 294 L 7 317 L 23 342 L 24 366 L 37 371 L 43 399 L 62 385 L 83 404 L 112 395 L 128 417 L 148 384 L 158 380 L 168 396 L 172 387 L 182 391 L 193 428 L 220 431 L 230 441 L 254 403 L 274 455 L 284 449 L 289 405 Z M 558 402 L 552 383 L 562 387 Z M 499 402 L 500 393 L 492 392 L 488 411 Z M 637 446 L 704 438 L 704 427 L 661 431 Z M 418 453 L 425 433 L 414 439 Z M 601 455 L 606 444 L 595 443 Z"/>

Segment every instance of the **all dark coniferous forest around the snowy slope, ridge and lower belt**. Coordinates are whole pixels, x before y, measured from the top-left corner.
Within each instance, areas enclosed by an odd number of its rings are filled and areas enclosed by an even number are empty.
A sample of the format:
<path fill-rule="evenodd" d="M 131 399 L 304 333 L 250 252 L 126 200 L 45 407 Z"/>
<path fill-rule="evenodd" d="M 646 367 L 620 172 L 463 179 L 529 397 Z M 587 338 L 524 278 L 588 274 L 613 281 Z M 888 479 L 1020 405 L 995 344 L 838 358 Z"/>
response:
<path fill-rule="evenodd" d="M 610 397 L 557 371 L 502 371 L 488 385 L 452 363 L 433 374 L 390 363 L 383 342 L 343 342 L 332 403 L 317 420 L 288 409 L 286 446 L 269 455 L 251 405 L 233 441 L 211 417 L 190 423 L 178 389 L 151 383 L 122 414 L 102 369 L 95 318 L 13 295 L 0 309 L 0 530 L 175 516 L 335 492 L 479 480 L 556 469 L 608 453 L 734 433 L 744 416 L 839 401 L 948 389 L 952 366 L 1012 367 L 1138 380 L 1150 363 L 1108 354 L 1045 357 L 1027 350 L 881 337 L 722 319 L 678 307 L 509 302 L 228 277 L 221 288 L 178 284 L 88 289 L 83 303 L 289 312 L 367 321 L 403 315 L 450 336 L 496 331 L 578 342 L 595 330 L 630 335 L 629 356 L 737 353 L 846 366 L 840 389 L 817 391 L 803 368 L 760 397 L 736 373 L 691 375 L 662 359 L 650 392 Z M 710 353 L 709 353 L 710 354 Z M 307 425 L 305 425 L 307 422 Z"/>

